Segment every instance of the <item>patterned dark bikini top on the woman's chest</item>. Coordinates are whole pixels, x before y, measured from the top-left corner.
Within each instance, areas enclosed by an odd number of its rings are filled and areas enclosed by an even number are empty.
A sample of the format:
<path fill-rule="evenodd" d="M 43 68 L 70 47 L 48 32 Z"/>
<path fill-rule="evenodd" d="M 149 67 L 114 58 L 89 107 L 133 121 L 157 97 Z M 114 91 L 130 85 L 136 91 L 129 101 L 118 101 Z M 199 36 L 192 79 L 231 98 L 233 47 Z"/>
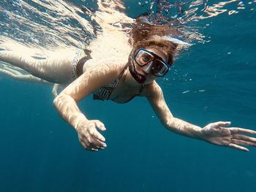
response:
<path fill-rule="evenodd" d="M 109 100 L 111 94 L 113 93 L 114 89 L 117 87 L 118 82 L 120 82 L 122 75 L 124 74 L 125 69 L 127 69 L 128 64 L 124 67 L 124 70 L 121 72 L 121 74 L 118 75 L 116 80 L 113 82 L 110 82 L 110 84 L 105 85 L 104 87 L 98 88 L 97 91 L 94 92 L 94 100 Z M 136 93 L 134 96 L 132 96 L 128 101 L 124 101 L 123 103 L 127 103 L 131 101 L 135 96 L 139 96 L 140 93 L 143 91 L 144 85 L 140 86 L 140 90 L 138 93 Z M 112 99 L 111 99 L 112 100 Z"/>

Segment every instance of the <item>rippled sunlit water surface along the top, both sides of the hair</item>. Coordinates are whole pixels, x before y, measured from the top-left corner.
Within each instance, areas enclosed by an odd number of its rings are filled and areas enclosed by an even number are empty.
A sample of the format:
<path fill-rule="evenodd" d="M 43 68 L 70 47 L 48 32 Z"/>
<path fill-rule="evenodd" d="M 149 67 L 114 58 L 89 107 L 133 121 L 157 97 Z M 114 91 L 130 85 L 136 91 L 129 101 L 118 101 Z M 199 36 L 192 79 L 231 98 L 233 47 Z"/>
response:
<path fill-rule="evenodd" d="M 63 0 L 1 1 L 0 50 L 48 57 L 59 50 L 74 53 L 77 48 L 86 48 L 92 58 L 107 58 L 111 54 L 127 59 L 130 50 L 127 31 L 134 21 L 124 13 L 128 3 L 111 0 L 80 1 L 78 4 Z M 236 4 L 236 9 L 230 8 L 230 4 Z M 149 22 L 176 26 L 180 32 L 178 39 L 192 43 L 209 42 L 201 32 L 203 26 L 197 25 L 200 20 L 225 12 L 233 15 L 246 7 L 252 9 L 254 5 L 255 1 L 237 0 L 138 2 L 138 6 L 147 7 Z M 205 25 L 207 27 L 208 23 Z"/>

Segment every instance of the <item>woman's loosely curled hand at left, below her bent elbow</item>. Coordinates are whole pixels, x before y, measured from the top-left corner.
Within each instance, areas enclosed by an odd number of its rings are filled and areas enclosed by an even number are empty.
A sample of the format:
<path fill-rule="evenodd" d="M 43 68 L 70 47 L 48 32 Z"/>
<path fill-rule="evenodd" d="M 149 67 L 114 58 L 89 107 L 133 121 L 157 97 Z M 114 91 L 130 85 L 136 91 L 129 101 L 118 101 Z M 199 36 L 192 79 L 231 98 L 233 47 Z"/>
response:
<path fill-rule="evenodd" d="M 105 137 L 97 131 L 106 131 L 106 128 L 99 120 L 87 120 L 76 129 L 78 131 L 79 142 L 86 150 L 97 151 L 107 147 Z"/>

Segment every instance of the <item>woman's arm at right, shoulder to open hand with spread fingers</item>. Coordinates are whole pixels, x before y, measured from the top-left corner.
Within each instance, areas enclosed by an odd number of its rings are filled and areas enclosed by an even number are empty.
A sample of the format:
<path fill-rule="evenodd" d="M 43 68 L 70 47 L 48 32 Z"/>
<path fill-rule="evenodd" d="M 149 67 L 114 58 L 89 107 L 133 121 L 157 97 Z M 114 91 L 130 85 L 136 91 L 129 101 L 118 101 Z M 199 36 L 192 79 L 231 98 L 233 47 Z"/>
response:
<path fill-rule="evenodd" d="M 249 151 L 241 145 L 256 146 L 256 139 L 254 137 L 244 135 L 256 134 L 256 131 L 235 127 L 225 128 L 225 126 L 230 126 L 230 122 L 220 121 L 200 128 L 184 120 L 174 118 L 167 107 L 162 89 L 157 85 L 157 82 L 147 86 L 145 95 L 161 122 L 170 131 L 187 137 L 201 139 L 214 145 L 233 147 L 238 150 Z"/>

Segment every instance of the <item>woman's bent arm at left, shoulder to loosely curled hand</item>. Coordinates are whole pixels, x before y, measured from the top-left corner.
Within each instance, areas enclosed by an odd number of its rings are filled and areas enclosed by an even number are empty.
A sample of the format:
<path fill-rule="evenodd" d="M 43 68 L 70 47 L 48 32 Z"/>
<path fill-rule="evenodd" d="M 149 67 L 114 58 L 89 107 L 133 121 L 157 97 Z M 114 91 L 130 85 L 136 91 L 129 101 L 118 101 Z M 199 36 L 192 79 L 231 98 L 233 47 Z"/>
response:
<path fill-rule="evenodd" d="M 89 67 L 91 63 L 91 67 Z M 54 99 L 53 103 L 64 120 L 78 132 L 78 138 L 88 150 L 99 150 L 106 147 L 105 138 L 97 131 L 105 131 L 99 120 L 89 120 L 78 108 L 78 101 L 93 93 L 102 85 L 108 84 L 118 76 L 117 67 L 107 64 L 94 64 L 86 61 L 86 72 L 72 82 Z"/>

